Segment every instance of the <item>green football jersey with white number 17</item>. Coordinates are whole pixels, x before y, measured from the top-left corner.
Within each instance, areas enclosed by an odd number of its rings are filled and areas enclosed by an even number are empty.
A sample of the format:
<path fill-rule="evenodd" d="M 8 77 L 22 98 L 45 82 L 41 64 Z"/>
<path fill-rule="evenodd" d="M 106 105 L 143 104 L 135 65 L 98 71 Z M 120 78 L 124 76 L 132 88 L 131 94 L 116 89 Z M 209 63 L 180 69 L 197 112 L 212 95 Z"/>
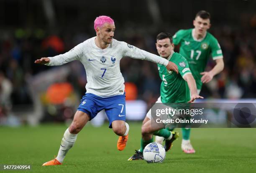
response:
<path fill-rule="evenodd" d="M 179 30 L 173 36 L 174 45 L 180 43 L 179 53 L 187 59 L 189 68 L 195 78 L 197 89 L 202 88 L 200 74 L 205 71 L 207 61 L 210 56 L 213 60 L 223 58 L 220 44 L 210 33 L 206 33 L 205 38 L 197 40 L 192 35 L 194 29 Z"/>

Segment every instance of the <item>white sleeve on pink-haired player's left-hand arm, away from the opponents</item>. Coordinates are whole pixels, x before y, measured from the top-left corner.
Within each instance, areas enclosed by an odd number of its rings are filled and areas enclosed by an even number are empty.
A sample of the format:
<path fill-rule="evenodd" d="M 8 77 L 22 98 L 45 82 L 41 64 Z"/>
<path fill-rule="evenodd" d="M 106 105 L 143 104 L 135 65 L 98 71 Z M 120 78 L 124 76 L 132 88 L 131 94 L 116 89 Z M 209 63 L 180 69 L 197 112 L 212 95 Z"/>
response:
<path fill-rule="evenodd" d="M 54 57 L 48 57 L 50 62 L 46 66 L 60 66 L 70 61 L 79 60 L 83 56 L 82 43 L 72 48 L 70 51 Z"/>

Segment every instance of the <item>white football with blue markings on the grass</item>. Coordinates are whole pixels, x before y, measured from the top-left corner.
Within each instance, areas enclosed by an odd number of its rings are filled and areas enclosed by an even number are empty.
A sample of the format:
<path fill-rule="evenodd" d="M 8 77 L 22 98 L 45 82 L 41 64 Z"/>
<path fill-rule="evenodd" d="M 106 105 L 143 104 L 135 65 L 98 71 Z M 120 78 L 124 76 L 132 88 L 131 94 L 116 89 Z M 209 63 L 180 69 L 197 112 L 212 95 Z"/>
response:
<path fill-rule="evenodd" d="M 147 163 L 161 163 L 165 158 L 165 150 L 161 144 L 152 142 L 143 150 L 143 157 Z"/>

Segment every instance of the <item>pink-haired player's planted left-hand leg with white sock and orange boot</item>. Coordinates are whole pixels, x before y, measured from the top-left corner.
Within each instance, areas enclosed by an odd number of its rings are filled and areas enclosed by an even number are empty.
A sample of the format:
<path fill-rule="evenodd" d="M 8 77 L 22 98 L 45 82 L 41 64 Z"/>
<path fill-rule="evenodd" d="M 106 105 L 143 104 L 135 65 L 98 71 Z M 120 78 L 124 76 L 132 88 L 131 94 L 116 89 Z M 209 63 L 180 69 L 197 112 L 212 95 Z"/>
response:
<path fill-rule="evenodd" d="M 86 125 L 89 120 L 90 115 L 82 111 L 77 111 L 74 115 L 73 122 L 63 135 L 57 158 L 44 163 L 43 166 L 61 165 L 68 150 L 73 147 L 74 142 L 77 140 L 77 133 L 82 130 L 84 125 Z"/>

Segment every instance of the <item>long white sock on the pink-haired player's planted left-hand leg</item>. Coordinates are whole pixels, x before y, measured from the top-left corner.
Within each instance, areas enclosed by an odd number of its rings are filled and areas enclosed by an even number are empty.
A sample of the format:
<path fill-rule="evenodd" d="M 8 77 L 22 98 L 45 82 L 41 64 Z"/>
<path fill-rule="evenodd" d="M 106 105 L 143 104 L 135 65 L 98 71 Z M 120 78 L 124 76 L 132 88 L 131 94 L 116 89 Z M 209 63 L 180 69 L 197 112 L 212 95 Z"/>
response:
<path fill-rule="evenodd" d="M 65 131 L 63 138 L 61 140 L 61 146 L 59 148 L 59 153 L 56 159 L 60 162 L 63 163 L 63 160 L 69 151 L 70 148 L 73 147 L 74 142 L 77 140 L 77 134 L 71 134 L 69 132 L 69 128 Z"/>

